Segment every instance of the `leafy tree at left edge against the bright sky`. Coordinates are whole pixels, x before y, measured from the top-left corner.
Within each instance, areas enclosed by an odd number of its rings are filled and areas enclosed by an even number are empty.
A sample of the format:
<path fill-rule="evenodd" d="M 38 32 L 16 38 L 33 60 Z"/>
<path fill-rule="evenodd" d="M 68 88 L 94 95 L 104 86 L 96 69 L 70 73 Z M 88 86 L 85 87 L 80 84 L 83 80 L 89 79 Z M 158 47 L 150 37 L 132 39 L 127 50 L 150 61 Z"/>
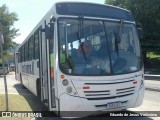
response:
<path fill-rule="evenodd" d="M 12 40 L 17 37 L 18 29 L 14 28 L 14 22 L 18 21 L 17 14 L 9 12 L 6 5 L 0 7 L 0 31 L 4 36 L 4 51 L 13 46 Z"/>

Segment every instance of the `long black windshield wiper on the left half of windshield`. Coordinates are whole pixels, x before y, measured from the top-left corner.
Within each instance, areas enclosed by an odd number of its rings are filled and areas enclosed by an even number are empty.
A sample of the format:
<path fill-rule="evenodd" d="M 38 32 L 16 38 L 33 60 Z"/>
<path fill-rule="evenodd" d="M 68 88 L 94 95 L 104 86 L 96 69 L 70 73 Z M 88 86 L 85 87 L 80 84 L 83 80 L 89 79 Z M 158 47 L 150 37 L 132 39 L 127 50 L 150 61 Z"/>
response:
<path fill-rule="evenodd" d="M 79 33 L 77 32 L 77 38 L 79 40 L 84 59 L 85 59 L 85 61 L 87 61 L 87 57 L 86 57 L 86 54 L 85 54 L 84 49 L 83 49 L 83 44 L 81 42 L 81 37 L 83 35 L 83 16 L 79 16 L 79 25 L 80 25 L 80 27 L 79 27 L 79 31 L 78 31 Z"/>

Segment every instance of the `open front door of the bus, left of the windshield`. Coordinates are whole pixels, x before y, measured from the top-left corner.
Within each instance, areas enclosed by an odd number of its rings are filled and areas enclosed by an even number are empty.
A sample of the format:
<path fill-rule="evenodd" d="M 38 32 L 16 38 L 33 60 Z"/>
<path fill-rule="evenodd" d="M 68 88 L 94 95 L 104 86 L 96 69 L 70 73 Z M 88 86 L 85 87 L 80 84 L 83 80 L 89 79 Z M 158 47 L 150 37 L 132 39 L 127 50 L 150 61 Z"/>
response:
<path fill-rule="evenodd" d="M 51 24 L 50 24 L 51 25 Z M 45 25 L 45 27 L 49 27 Z M 54 27 L 50 27 L 53 29 Z M 53 34 L 53 30 L 52 34 Z M 54 87 L 54 40 L 53 36 L 48 39 L 46 33 L 42 32 L 41 39 L 41 81 L 42 81 L 42 91 L 43 98 L 48 101 L 49 110 L 56 110 L 56 101 L 55 101 L 55 87 Z"/>

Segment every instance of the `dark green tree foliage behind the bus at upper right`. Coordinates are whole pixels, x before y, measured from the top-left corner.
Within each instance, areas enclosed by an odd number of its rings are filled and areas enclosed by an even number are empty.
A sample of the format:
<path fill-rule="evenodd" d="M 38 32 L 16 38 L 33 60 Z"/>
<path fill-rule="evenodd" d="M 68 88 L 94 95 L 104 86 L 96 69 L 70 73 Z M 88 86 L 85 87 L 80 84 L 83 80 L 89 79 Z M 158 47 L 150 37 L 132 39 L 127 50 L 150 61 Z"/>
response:
<path fill-rule="evenodd" d="M 160 53 L 160 3 L 159 0 L 106 0 L 105 3 L 128 9 L 144 31 L 142 49 Z"/>

